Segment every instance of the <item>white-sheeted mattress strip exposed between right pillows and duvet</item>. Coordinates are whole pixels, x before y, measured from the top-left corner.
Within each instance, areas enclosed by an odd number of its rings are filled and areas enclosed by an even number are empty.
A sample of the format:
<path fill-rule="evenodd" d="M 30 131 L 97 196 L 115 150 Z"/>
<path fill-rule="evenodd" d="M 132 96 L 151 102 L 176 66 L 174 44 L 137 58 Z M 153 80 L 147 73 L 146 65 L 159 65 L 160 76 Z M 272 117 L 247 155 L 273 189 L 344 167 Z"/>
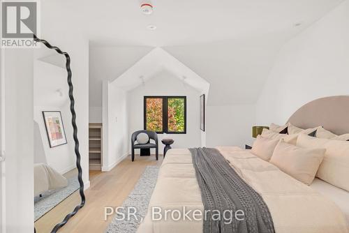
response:
<path fill-rule="evenodd" d="M 336 186 L 332 186 L 332 184 L 318 178 L 315 178 L 313 183 L 311 183 L 311 188 L 317 190 L 319 193 L 336 203 L 336 205 L 339 206 L 339 209 L 341 209 L 345 214 L 349 226 L 349 192 L 337 188 Z"/>

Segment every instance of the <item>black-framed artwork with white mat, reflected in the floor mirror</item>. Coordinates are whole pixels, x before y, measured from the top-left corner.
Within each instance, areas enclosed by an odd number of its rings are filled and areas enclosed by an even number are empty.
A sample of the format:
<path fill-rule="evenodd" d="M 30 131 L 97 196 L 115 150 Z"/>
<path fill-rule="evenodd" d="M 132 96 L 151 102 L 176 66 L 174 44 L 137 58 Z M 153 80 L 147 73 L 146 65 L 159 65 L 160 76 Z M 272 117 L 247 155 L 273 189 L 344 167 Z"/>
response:
<path fill-rule="evenodd" d="M 64 130 L 60 111 L 43 111 L 43 119 L 50 148 L 66 144 L 66 131 Z"/>

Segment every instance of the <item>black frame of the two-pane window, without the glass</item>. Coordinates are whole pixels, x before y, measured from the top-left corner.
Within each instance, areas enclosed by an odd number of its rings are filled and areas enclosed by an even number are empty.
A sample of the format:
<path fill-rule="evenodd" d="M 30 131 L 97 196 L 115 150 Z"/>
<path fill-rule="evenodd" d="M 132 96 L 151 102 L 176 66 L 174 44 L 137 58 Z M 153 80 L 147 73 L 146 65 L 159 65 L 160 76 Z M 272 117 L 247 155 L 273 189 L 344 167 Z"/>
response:
<path fill-rule="evenodd" d="M 147 98 L 162 98 L 163 99 L 163 131 L 156 132 L 158 134 L 186 134 L 186 96 L 144 96 L 143 99 L 143 121 L 144 130 L 147 130 Z M 173 132 L 168 131 L 168 99 L 169 98 L 183 98 L 184 99 L 184 131 Z"/>

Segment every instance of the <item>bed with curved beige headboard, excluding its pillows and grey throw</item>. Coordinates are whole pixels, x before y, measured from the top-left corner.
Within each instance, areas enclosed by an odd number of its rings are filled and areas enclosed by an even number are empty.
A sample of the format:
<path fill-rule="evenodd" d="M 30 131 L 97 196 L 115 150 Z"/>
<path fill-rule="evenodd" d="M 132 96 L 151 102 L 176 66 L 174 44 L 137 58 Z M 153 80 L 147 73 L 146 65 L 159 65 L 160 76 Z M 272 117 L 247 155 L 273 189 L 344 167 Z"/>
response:
<path fill-rule="evenodd" d="M 324 126 L 333 132 L 349 133 L 349 97 L 334 96 L 314 100 L 290 118 L 295 126 Z M 320 116 L 320 117 L 318 117 Z M 349 143 L 349 142 L 348 142 Z M 349 232 L 349 192 L 315 179 L 311 186 L 281 172 L 275 165 L 253 155 L 250 150 L 234 146 L 217 147 L 217 151 L 239 177 L 255 190 L 269 209 L 277 233 L 347 233 Z M 349 156 L 349 155 L 348 155 Z M 163 160 L 148 213 L 139 233 L 201 233 L 204 220 L 188 218 L 154 218 L 154 208 L 173 212 L 205 211 L 201 184 L 188 149 L 172 149 Z M 239 232 L 239 231 L 237 231 Z M 248 231 L 253 232 L 253 231 Z M 255 231 L 258 232 L 258 231 Z"/>

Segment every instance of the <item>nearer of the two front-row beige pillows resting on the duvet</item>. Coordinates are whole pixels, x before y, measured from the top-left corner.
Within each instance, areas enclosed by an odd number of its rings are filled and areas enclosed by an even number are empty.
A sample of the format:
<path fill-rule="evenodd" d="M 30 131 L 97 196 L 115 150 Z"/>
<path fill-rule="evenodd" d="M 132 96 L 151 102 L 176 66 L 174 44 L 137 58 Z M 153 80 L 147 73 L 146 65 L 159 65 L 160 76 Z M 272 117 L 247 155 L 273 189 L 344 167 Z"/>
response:
<path fill-rule="evenodd" d="M 293 178 L 310 185 L 325 151 L 326 149 L 305 149 L 281 140 L 275 147 L 270 163 Z"/>

